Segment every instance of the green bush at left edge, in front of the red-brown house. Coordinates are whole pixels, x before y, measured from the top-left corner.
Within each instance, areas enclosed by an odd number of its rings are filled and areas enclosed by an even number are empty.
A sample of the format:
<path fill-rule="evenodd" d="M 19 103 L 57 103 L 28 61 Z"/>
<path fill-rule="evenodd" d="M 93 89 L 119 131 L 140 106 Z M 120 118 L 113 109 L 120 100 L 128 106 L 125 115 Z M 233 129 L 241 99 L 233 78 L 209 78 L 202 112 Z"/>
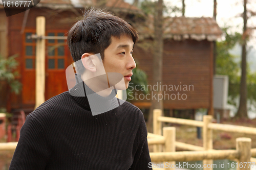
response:
<path fill-rule="evenodd" d="M 16 94 L 19 93 L 22 87 L 22 84 L 15 80 L 15 76 L 19 75 L 17 71 L 14 71 L 18 65 L 18 62 L 15 60 L 17 56 L 18 55 L 13 55 L 11 57 L 4 58 L 0 55 L 0 80 L 7 81 L 11 87 L 11 91 Z"/>

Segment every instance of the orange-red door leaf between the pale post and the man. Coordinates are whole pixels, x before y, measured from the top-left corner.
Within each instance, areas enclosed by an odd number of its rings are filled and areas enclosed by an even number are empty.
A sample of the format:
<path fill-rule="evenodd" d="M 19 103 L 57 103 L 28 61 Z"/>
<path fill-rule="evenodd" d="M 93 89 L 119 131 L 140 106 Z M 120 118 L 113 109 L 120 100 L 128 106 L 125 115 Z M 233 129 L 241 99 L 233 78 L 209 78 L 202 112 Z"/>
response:
<path fill-rule="evenodd" d="M 48 30 L 48 36 L 67 36 L 67 30 Z M 66 68 L 71 64 L 67 40 L 46 40 L 46 100 L 68 91 Z"/>

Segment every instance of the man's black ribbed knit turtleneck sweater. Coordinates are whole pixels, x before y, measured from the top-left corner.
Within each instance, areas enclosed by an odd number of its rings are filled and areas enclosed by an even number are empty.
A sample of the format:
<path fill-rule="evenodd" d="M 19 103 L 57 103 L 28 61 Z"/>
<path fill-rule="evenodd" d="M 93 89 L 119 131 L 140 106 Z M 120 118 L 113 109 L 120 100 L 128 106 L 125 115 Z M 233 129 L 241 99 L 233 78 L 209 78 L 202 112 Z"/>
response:
<path fill-rule="evenodd" d="M 87 96 L 71 95 L 83 86 L 54 96 L 27 116 L 9 169 L 152 169 L 143 113 L 124 101 L 115 108 L 113 90 L 101 104 L 114 109 L 93 116 Z"/>

